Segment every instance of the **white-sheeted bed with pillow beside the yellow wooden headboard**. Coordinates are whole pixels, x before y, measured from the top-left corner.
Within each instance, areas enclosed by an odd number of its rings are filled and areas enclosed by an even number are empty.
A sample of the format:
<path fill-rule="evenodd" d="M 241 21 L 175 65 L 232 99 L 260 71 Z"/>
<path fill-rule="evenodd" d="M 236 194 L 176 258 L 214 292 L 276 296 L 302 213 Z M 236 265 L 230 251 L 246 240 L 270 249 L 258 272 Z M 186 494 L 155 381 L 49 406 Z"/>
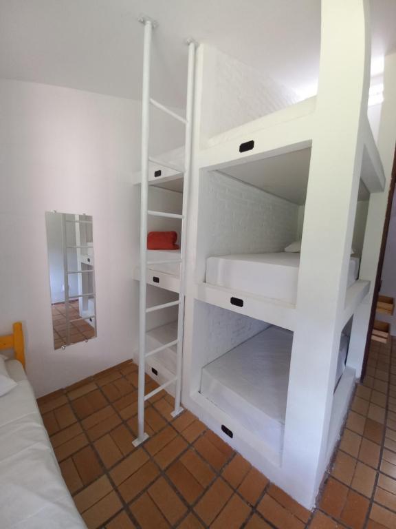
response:
<path fill-rule="evenodd" d="M 18 384 L 0 397 L 1 529 L 86 529 L 22 366 L 14 360 L 6 366 Z"/>

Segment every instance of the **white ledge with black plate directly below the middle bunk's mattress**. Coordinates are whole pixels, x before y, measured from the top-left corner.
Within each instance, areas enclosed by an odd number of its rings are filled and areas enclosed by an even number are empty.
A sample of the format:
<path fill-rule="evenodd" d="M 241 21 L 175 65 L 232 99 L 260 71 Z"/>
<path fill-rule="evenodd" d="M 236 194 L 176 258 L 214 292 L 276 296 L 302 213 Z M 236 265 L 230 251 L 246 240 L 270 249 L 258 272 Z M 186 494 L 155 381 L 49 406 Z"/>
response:
<path fill-rule="evenodd" d="M 289 331 L 294 331 L 296 325 L 296 306 L 291 303 L 208 283 L 199 283 L 195 286 L 195 298 L 222 309 L 278 325 Z"/>

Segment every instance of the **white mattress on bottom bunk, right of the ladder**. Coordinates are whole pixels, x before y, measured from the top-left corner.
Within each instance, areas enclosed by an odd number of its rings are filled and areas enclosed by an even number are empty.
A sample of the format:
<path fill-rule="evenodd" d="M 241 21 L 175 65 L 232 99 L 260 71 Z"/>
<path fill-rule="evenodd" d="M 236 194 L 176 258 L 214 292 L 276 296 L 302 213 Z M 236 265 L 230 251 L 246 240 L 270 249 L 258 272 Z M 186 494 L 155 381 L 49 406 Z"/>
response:
<path fill-rule="evenodd" d="M 201 394 L 278 450 L 293 333 L 270 326 L 202 369 Z"/>

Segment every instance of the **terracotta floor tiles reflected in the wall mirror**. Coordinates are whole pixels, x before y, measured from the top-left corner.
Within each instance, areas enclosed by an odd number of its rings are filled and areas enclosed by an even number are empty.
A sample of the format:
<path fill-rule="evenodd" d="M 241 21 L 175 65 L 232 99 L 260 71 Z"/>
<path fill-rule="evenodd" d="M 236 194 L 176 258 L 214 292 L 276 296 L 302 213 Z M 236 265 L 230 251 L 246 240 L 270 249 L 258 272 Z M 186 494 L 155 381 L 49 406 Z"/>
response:
<path fill-rule="evenodd" d="M 52 305 L 52 327 L 54 330 L 54 347 L 60 349 L 66 343 L 66 318 L 65 303 L 54 303 Z M 80 318 L 78 311 L 78 301 L 69 302 L 69 318 L 76 320 Z M 95 329 L 85 320 L 73 322 L 70 324 L 70 343 L 84 342 L 89 338 L 94 338 Z"/>

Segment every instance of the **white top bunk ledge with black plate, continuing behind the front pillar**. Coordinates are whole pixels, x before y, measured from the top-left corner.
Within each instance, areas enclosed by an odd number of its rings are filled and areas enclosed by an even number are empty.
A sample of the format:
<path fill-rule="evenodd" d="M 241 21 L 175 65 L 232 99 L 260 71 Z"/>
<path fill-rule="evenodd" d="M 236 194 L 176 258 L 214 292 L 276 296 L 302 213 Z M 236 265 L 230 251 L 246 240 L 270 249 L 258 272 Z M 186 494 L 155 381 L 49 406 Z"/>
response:
<path fill-rule="evenodd" d="M 316 127 L 316 97 L 212 136 L 199 151 L 200 169 L 225 171 L 254 160 L 294 156 L 310 149 Z M 384 191 L 385 176 L 369 118 L 362 125 L 364 154 L 362 181 L 370 193 Z"/>

